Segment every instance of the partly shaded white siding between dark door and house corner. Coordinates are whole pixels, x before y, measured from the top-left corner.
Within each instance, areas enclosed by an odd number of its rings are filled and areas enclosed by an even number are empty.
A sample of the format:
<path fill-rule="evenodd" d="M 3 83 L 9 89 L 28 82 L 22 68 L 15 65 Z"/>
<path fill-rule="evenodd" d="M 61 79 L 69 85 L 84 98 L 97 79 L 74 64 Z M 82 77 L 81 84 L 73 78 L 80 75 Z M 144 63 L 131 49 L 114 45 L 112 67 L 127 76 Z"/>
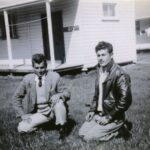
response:
<path fill-rule="evenodd" d="M 79 0 L 61 0 L 52 3 L 52 11 L 62 11 L 63 27 L 79 26 L 79 31 L 64 32 L 66 63 L 83 63 L 80 40 Z"/>

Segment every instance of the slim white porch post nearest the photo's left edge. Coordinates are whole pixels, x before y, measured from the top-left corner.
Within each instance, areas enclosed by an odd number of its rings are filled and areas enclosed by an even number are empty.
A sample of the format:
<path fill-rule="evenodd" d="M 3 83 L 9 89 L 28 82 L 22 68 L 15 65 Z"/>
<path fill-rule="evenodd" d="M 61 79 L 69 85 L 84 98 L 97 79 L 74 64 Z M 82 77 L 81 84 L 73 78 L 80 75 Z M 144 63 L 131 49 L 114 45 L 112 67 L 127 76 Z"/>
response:
<path fill-rule="evenodd" d="M 5 29 L 6 29 L 6 38 L 7 38 L 7 49 L 8 49 L 8 59 L 9 59 L 9 67 L 13 68 L 12 62 L 12 46 L 10 39 L 10 29 L 9 29 L 9 21 L 8 21 L 8 13 L 4 10 L 4 20 L 5 20 Z"/>

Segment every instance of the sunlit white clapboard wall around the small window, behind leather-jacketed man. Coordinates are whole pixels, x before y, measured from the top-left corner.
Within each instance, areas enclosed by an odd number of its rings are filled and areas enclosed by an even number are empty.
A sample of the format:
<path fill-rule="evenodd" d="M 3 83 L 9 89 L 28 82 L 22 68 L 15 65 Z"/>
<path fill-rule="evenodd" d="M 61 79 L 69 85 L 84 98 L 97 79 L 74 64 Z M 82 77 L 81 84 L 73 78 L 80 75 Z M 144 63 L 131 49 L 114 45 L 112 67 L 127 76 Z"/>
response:
<path fill-rule="evenodd" d="M 85 64 L 96 64 L 95 46 L 99 41 L 113 44 L 116 62 L 136 61 L 134 1 L 118 1 L 117 21 L 102 20 L 102 1 L 81 0 L 80 5 Z"/>

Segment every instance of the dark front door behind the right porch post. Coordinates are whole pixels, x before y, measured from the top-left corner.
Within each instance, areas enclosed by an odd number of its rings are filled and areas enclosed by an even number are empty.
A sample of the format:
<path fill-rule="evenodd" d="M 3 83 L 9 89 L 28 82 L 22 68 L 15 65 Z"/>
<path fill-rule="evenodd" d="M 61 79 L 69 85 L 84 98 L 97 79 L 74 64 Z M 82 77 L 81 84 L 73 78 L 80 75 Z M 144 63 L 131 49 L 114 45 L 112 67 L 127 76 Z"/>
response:
<path fill-rule="evenodd" d="M 41 18 L 44 17 L 46 17 L 46 14 L 41 15 Z M 65 61 L 65 49 L 64 49 L 64 36 L 63 36 L 61 11 L 52 13 L 52 29 L 53 29 L 55 60 L 63 63 Z M 43 35 L 44 54 L 47 60 L 50 60 L 50 46 L 48 40 L 47 19 L 42 19 L 42 35 Z"/>

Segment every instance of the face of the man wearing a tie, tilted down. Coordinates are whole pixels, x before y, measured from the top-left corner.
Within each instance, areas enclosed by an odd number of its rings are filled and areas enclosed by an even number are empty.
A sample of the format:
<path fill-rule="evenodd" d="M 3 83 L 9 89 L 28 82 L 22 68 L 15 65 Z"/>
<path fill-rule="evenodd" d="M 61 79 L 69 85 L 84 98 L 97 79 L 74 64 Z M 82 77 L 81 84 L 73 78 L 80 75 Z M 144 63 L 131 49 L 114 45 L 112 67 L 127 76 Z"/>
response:
<path fill-rule="evenodd" d="M 38 77 L 42 77 L 46 73 L 46 66 L 44 62 L 41 62 L 40 64 L 34 63 L 34 72 Z"/>

